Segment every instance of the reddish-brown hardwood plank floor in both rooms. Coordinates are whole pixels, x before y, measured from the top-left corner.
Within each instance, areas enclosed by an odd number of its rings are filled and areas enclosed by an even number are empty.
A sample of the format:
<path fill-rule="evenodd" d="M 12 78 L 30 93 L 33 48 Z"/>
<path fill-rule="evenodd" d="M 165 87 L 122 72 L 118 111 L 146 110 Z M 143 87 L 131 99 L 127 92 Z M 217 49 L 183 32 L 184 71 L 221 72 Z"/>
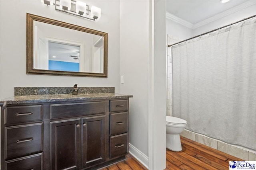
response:
<path fill-rule="evenodd" d="M 165 170 L 227 170 L 230 160 L 242 160 L 185 137 L 180 137 L 180 140 L 182 151 L 166 149 Z M 147 170 L 132 155 L 128 154 L 126 158 L 127 160 L 102 170 Z"/>

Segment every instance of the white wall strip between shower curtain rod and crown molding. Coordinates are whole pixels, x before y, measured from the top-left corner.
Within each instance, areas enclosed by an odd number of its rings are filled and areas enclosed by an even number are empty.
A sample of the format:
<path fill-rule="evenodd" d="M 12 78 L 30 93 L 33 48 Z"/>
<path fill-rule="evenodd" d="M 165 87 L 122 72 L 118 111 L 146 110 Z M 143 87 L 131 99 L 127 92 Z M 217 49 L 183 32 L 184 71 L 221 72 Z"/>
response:
<path fill-rule="evenodd" d="M 220 18 L 218 20 L 212 21 L 208 24 L 202 25 L 192 31 L 192 37 L 196 35 L 200 35 L 202 33 L 217 29 L 219 27 L 223 27 L 225 25 L 229 25 L 230 23 L 234 23 L 239 20 L 243 20 L 244 18 L 248 18 L 256 14 L 256 4 L 252 6 L 248 6 L 240 11 L 234 12 L 228 16 Z"/>

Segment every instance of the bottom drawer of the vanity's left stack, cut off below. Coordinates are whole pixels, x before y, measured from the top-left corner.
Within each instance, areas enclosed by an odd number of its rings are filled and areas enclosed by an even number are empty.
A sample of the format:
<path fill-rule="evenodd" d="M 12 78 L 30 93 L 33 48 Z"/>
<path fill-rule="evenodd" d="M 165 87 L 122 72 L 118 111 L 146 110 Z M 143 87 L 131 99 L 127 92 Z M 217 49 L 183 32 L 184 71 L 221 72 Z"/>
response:
<path fill-rule="evenodd" d="M 41 170 L 43 153 L 4 162 L 4 170 Z"/>

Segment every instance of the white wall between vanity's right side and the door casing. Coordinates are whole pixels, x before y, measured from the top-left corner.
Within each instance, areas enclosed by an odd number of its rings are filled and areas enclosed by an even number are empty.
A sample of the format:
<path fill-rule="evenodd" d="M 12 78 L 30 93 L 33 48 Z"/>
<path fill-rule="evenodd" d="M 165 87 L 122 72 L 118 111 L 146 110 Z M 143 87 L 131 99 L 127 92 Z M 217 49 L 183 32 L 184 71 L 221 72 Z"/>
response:
<path fill-rule="evenodd" d="M 132 12 L 131 12 L 132 10 Z M 120 1 L 120 93 L 131 94 L 129 142 L 148 156 L 149 1 Z M 144 164 L 148 164 L 146 160 Z"/>

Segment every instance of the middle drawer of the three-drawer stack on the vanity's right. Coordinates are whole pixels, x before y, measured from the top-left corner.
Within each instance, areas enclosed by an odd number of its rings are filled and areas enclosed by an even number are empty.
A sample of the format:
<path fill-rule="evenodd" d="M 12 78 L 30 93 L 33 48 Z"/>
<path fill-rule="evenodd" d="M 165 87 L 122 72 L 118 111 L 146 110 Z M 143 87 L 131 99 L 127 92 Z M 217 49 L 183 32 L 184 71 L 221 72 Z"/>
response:
<path fill-rule="evenodd" d="M 110 113 L 110 135 L 126 133 L 128 130 L 127 112 Z"/>

